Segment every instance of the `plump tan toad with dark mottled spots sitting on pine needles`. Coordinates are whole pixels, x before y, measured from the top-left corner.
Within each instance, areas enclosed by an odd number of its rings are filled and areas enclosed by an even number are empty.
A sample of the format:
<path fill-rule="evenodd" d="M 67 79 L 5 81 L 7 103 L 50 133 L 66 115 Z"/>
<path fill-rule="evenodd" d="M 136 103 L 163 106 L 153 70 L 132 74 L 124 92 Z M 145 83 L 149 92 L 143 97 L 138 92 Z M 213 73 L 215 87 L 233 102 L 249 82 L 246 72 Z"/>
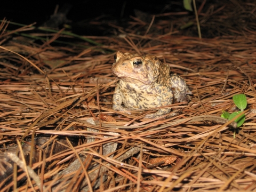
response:
<path fill-rule="evenodd" d="M 117 52 L 111 70 L 119 78 L 113 95 L 114 110 L 143 110 L 190 100 L 188 94 L 192 93 L 185 80 L 170 75 L 170 66 L 154 55 Z M 161 108 L 145 117 L 156 118 L 170 111 Z"/>

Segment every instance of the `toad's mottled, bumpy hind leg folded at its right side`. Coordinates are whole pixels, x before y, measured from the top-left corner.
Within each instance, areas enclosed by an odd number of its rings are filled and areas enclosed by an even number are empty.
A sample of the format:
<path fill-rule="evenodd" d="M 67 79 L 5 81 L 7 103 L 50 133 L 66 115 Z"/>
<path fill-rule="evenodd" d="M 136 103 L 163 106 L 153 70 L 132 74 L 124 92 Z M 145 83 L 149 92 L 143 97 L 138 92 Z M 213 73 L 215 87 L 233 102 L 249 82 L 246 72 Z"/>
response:
<path fill-rule="evenodd" d="M 173 92 L 173 103 L 190 101 L 188 94 L 193 93 L 189 90 L 185 80 L 181 76 L 172 74 L 169 79 L 169 85 Z"/>

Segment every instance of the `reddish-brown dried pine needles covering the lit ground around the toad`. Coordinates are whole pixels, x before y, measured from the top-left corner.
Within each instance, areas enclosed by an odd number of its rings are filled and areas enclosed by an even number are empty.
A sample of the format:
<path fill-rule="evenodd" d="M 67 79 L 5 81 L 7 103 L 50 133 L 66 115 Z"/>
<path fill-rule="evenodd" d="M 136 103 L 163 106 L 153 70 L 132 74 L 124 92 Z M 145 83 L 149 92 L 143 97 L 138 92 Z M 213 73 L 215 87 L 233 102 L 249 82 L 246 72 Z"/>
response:
<path fill-rule="evenodd" d="M 62 36 L 47 35 L 49 42 Z M 38 44 L 11 38 L 7 31 L 0 37 L 0 170 L 19 158 L 18 173 L 14 165 L 14 177 L 2 178 L 1 191 L 256 189 L 255 35 L 86 38 L 104 46 Z M 116 51 L 154 54 L 185 78 L 191 101 L 165 106 L 183 113 L 145 119 L 149 111 L 127 115 L 111 109 Z M 234 139 L 232 122 L 220 115 L 237 110 L 232 97 L 238 93 L 246 95 L 248 105 Z M 29 148 L 6 163 L 5 151 L 22 143 L 24 148 L 36 145 L 34 159 L 28 157 Z M 112 149 L 107 155 L 106 143 Z M 32 169 L 24 166 L 23 171 L 20 164 Z"/>

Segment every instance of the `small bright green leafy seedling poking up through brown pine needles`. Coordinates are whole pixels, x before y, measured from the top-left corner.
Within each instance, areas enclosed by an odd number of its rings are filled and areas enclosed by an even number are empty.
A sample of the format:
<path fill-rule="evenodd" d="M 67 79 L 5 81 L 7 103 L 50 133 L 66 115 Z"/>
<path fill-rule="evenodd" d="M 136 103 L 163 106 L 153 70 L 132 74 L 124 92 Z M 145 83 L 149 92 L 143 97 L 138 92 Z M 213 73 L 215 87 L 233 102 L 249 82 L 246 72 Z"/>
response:
<path fill-rule="evenodd" d="M 236 111 L 236 112 L 230 114 L 227 111 L 222 110 L 221 117 L 231 120 L 234 117 L 236 117 L 237 115 L 241 114 L 247 106 L 247 100 L 246 100 L 245 94 L 234 95 L 233 101 L 234 101 L 236 107 L 238 109 L 240 109 L 240 111 Z M 243 125 L 244 121 L 245 121 L 244 114 L 241 115 L 240 117 L 238 117 L 237 119 L 235 119 L 235 122 L 237 123 L 237 127 Z M 234 132 L 234 137 L 235 137 L 235 132 Z"/>

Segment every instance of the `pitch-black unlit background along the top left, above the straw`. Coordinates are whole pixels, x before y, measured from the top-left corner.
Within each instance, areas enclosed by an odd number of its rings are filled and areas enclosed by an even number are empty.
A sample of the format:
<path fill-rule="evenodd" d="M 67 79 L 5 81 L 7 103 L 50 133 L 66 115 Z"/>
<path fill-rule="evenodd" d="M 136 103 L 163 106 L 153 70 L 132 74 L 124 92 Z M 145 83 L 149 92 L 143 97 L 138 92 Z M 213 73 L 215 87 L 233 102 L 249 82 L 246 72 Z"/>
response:
<path fill-rule="evenodd" d="M 172 3 L 170 3 L 172 2 Z M 122 20 L 134 16 L 134 9 L 141 10 L 150 14 L 159 14 L 164 12 L 185 11 L 182 1 L 1 1 L 0 19 L 4 17 L 7 20 L 22 24 L 37 22 L 42 25 L 53 14 L 55 6 L 59 7 L 68 3 L 71 10 L 67 18 L 73 23 L 83 20 L 89 20 L 102 16 L 105 20 Z M 121 10 L 123 9 L 123 15 Z"/>

